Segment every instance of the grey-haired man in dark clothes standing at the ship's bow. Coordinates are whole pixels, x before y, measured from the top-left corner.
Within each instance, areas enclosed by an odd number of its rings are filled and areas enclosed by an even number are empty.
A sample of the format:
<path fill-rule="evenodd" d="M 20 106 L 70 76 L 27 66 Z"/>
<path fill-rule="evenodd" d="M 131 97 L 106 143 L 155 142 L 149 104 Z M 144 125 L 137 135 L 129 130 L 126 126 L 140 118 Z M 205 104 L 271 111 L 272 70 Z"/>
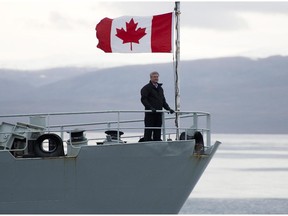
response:
<path fill-rule="evenodd" d="M 170 113 L 174 113 L 166 102 L 162 83 L 158 83 L 159 73 L 154 71 L 150 73 L 150 82 L 141 89 L 141 102 L 145 107 L 145 110 L 151 110 L 152 112 L 145 112 L 145 130 L 144 141 L 161 141 L 161 129 L 162 126 L 162 108 L 169 110 Z M 149 129 L 146 127 L 159 127 L 159 129 Z M 153 133 L 153 139 L 152 139 Z"/>

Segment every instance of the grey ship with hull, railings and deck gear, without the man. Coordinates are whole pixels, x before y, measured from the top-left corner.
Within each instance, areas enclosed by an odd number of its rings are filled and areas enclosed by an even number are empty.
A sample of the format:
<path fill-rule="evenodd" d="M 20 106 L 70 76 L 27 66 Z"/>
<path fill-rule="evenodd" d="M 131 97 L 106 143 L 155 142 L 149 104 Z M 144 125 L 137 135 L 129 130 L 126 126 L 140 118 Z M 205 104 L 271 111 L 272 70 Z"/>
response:
<path fill-rule="evenodd" d="M 1 115 L 0 213 L 178 213 L 220 142 L 192 111 L 141 142 L 144 112 Z"/>

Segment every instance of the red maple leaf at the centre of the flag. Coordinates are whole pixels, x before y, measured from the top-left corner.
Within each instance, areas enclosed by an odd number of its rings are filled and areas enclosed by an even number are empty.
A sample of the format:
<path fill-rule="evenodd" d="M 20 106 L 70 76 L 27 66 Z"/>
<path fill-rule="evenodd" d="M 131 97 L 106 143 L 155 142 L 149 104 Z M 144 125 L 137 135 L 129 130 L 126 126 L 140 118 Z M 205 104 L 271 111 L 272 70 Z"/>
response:
<path fill-rule="evenodd" d="M 135 23 L 133 18 L 129 23 L 126 22 L 126 31 L 121 28 L 116 28 L 116 36 L 123 40 L 124 43 L 130 43 L 130 50 L 132 51 L 132 43 L 139 44 L 139 40 L 146 35 L 146 28 L 137 28 L 138 23 Z"/>

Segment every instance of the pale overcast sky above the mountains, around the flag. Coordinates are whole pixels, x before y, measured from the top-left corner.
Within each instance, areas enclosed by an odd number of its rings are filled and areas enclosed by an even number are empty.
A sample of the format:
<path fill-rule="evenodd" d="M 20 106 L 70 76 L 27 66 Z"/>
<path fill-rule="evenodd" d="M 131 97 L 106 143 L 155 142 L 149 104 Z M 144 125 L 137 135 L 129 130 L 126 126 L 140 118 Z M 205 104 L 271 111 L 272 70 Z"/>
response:
<path fill-rule="evenodd" d="M 181 60 L 288 55 L 288 2 L 181 2 Z M 173 11 L 171 1 L 0 0 L 0 68 L 113 67 L 172 62 L 173 54 L 106 54 L 104 17 Z"/>

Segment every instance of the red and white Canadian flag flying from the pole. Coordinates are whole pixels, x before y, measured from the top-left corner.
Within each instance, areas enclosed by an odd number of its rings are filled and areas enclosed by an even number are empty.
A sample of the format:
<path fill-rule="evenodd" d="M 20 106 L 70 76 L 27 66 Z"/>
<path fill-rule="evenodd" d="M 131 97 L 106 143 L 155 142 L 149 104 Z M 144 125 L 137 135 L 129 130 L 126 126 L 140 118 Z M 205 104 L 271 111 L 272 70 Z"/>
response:
<path fill-rule="evenodd" d="M 150 17 L 104 18 L 96 25 L 97 47 L 104 52 L 173 52 L 173 13 Z"/>

